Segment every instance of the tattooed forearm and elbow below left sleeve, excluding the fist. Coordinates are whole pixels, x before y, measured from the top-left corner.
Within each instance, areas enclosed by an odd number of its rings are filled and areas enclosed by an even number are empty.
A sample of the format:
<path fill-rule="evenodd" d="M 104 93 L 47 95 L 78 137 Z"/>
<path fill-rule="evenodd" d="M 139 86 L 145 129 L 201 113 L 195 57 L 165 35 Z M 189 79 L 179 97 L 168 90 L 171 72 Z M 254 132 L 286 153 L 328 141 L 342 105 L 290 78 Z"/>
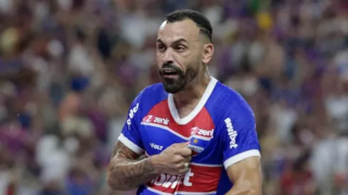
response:
<path fill-rule="evenodd" d="M 117 143 L 109 163 L 107 177 L 112 188 L 131 190 L 156 178 L 157 174 L 154 171 L 150 159 L 141 159 L 128 147 Z"/>

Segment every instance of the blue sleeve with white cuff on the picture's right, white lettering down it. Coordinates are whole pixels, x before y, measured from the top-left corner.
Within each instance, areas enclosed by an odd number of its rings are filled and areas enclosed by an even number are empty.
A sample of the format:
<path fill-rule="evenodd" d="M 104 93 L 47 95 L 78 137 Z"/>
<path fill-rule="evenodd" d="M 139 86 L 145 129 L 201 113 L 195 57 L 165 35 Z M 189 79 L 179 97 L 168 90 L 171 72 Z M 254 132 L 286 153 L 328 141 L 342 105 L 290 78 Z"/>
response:
<path fill-rule="evenodd" d="M 254 113 L 249 106 L 229 108 L 219 125 L 225 169 L 246 158 L 261 157 Z"/>

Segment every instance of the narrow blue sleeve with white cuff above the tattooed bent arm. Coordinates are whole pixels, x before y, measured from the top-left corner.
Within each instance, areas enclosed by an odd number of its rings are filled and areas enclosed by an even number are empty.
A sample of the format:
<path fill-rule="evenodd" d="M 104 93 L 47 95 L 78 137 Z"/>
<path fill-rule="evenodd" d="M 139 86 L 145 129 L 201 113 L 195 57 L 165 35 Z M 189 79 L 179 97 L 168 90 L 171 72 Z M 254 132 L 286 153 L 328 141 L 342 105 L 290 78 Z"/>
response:
<path fill-rule="evenodd" d="M 139 125 L 141 123 L 141 94 L 131 104 L 129 114 L 127 116 L 124 127 L 119 135 L 119 141 L 129 147 L 138 155 L 143 154 L 143 143 L 139 133 Z"/>

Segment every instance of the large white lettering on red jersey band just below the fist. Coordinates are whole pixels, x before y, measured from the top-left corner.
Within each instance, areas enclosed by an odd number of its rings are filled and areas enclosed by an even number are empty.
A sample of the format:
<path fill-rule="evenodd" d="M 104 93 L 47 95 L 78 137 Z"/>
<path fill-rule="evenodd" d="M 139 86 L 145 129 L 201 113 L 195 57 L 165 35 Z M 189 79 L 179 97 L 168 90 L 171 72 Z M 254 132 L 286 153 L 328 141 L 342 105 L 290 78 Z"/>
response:
<path fill-rule="evenodd" d="M 180 184 L 184 186 L 192 186 L 190 178 L 195 174 L 191 172 L 191 169 L 184 175 L 170 175 L 170 174 L 160 174 L 156 179 L 150 182 L 150 186 L 162 186 L 165 188 L 175 189 Z"/>

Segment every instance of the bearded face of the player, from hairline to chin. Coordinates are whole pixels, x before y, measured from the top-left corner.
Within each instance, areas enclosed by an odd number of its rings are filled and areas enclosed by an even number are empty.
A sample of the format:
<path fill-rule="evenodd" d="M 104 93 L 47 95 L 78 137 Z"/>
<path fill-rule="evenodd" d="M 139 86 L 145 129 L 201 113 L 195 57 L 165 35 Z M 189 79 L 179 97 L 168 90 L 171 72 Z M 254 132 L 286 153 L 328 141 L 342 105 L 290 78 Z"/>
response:
<path fill-rule="evenodd" d="M 165 91 L 183 90 L 202 65 L 200 28 L 191 20 L 164 22 L 158 30 L 157 65 Z"/>

